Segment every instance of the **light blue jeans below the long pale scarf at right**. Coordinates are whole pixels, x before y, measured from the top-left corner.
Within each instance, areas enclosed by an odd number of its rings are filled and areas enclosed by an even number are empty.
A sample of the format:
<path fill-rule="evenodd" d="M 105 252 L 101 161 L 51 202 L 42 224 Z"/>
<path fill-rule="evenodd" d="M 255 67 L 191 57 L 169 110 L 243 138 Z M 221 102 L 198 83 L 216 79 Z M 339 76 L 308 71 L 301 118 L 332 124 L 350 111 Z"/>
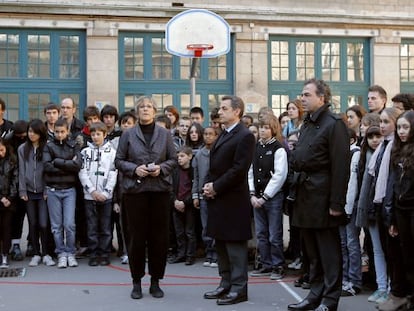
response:
<path fill-rule="evenodd" d="M 368 229 L 369 235 L 371 236 L 372 248 L 374 250 L 374 264 L 377 286 L 379 290 L 386 291 L 388 288 L 387 264 L 385 261 L 384 251 L 381 245 L 378 224 L 376 222 L 370 223 Z"/>

